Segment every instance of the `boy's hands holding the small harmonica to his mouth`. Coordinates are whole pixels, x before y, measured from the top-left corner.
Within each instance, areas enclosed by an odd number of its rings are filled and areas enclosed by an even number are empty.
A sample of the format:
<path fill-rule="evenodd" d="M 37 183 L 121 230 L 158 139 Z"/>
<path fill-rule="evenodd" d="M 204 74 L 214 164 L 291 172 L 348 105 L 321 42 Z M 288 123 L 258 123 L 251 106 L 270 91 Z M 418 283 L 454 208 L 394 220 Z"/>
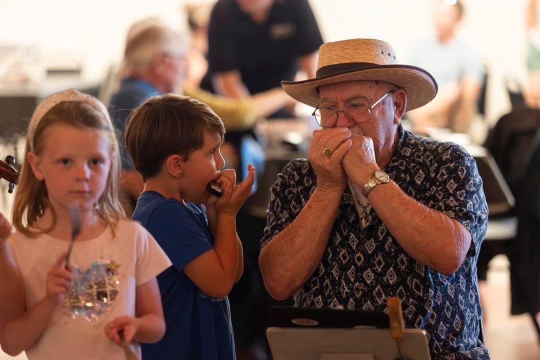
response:
<path fill-rule="evenodd" d="M 215 202 L 218 213 L 236 214 L 244 202 L 251 195 L 253 183 L 255 182 L 255 167 L 248 165 L 248 175 L 246 180 L 236 184 L 236 173 L 233 169 L 226 169 L 221 172 L 218 182 L 224 189 L 223 195 Z"/>

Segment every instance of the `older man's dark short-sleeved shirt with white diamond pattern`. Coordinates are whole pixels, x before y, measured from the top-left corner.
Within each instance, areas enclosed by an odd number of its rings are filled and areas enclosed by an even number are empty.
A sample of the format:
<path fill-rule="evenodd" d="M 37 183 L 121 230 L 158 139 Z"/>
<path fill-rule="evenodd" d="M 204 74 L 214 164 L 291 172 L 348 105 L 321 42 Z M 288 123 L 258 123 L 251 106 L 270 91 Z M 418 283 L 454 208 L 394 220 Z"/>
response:
<path fill-rule="evenodd" d="M 445 276 L 416 261 L 374 209 L 362 229 L 347 188 L 321 263 L 294 294 L 294 304 L 387 312 L 387 298 L 397 296 L 406 327 L 427 332 L 432 358 L 489 359 L 478 339 L 482 312 L 476 261 L 488 207 L 476 162 L 456 144 L 421 139 L 401 126 L 398 131 L 399 142 L 384 171 L 416 201 L 469 230 L 473 241 L 462 266 Z M 261 247 L 296 218 L 316 184 L 308 160 L 289 162 L 272 187 Z"/>

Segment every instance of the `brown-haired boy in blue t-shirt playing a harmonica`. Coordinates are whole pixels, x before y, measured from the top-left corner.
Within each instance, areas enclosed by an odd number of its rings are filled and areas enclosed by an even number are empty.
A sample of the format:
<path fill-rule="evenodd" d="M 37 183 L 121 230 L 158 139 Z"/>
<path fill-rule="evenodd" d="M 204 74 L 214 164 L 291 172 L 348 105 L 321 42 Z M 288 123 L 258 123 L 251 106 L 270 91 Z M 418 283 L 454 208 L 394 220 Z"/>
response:
<path fill-rule="evenodd" d="M 238 186 L 220 153 L 225 128 L 206 104 L 165 94 L 146 100 L 126 124 L 126 145 L 143 176 L 133 219 L 173 266 L 158 275 L 167 330 L 143 345 L 145 359 L 234 359 L 227 294 L 243 271 L 236 214 L 251 194 L 255 169 Z M 223 188 L 210 195 L 208 183 Z"/>

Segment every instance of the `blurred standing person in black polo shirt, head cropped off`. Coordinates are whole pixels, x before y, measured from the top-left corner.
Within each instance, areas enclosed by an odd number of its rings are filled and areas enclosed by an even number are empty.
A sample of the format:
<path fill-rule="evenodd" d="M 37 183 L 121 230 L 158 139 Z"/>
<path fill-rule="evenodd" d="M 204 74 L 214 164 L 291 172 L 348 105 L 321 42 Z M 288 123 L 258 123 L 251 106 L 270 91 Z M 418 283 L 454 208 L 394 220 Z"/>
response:
<path fill-rule="evenodd" d="M 319 27 L 307 0 L 218 0 L 208 25 L 213 90 L 232 98 L 315 75 Z M 293 117 L 292 106 L 271 117 Z"/>

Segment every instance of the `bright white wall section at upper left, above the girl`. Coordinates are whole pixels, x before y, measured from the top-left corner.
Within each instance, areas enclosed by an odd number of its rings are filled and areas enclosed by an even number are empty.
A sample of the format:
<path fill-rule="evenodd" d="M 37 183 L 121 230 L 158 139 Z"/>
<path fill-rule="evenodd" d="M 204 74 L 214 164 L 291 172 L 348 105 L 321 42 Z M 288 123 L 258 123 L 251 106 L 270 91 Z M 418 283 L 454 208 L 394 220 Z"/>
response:
<path fill-rule="evenodd" d="M 82 59 L 85 77 L 93 79 L 120 58 L 131 23 L 153 15 L 179 23 L 180 14 L 177 0 L 0 0 L 0 44 Z"/>

